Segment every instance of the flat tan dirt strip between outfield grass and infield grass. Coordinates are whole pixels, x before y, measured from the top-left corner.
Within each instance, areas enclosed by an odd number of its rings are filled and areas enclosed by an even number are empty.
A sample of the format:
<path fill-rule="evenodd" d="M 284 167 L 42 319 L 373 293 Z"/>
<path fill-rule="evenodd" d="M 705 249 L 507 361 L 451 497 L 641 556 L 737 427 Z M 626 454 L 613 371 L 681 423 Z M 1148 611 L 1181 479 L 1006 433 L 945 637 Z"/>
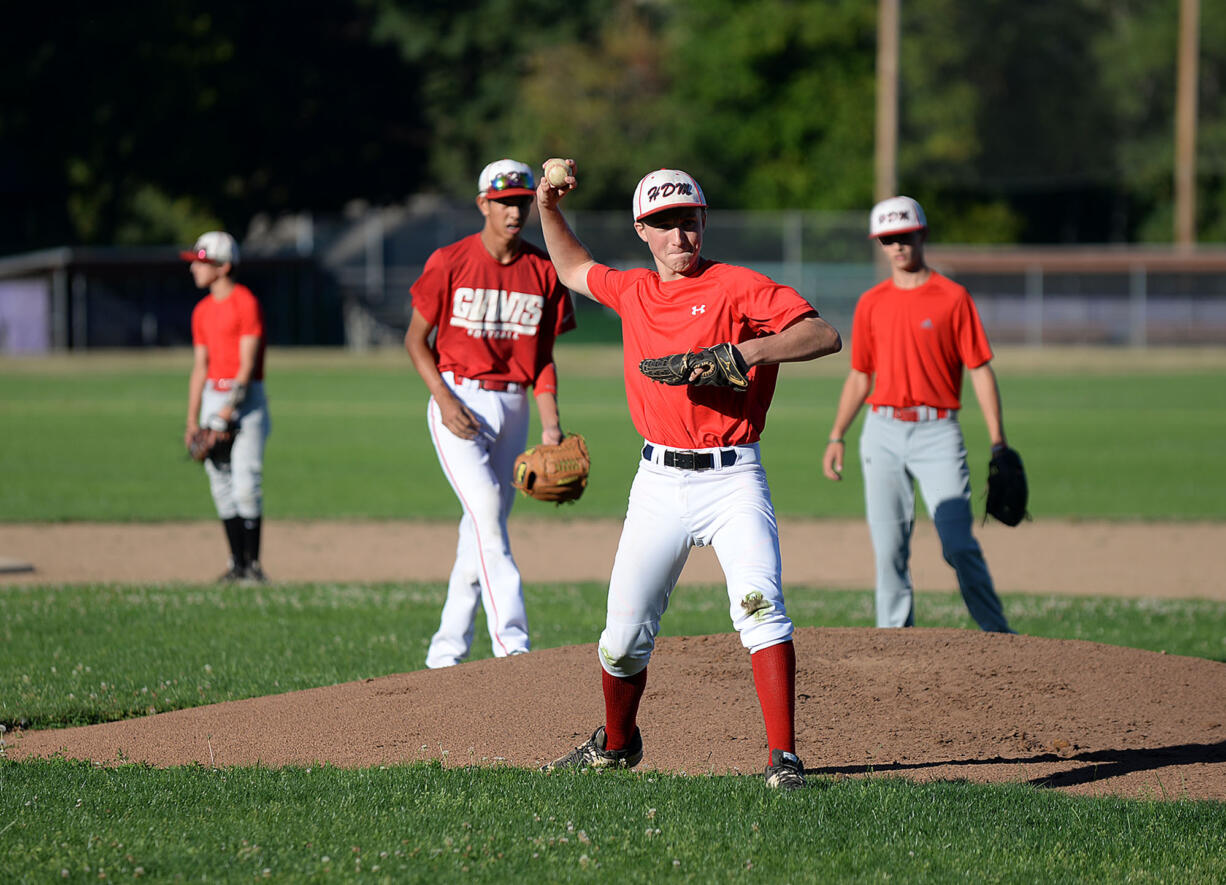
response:
<path fill-rule="evenodd" d="M 604 581 L 620 534 L 612 520 L 511 520 L 511 544 L 527 582 Z M 1226 599 L 1224 522 L 988 523 L 976 537 L 1007 592 Z M 270 521 L 264 565 L 282 581 L 443 581 L 455 555 L 452 522 Z M 862 520 L 781 520 L 788 585 L 873 586 L 868 527 Z M 956 590 L 932 523 L 916 527 L 912 572 L 920 590 Z M 201 582 L 224 570 L 216 522 L 0 523 L 0 558 L 29 571 L 0 572 L 4 583 Z M 698 549 L 683 583 L 722 583 L 710 549 Z"/>

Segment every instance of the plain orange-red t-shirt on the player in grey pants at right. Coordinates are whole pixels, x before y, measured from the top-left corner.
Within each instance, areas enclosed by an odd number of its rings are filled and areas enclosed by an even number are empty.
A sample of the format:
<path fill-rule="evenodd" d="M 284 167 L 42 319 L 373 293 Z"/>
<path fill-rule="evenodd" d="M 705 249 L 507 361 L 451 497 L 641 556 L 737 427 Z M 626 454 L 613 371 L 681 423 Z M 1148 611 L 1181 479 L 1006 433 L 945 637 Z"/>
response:
<path fill-rule="evenodd" d="M 989 359 L 971 294 L 935 271 L 915 289 L 880 282 L 856 304 L 851 368 L 877 375 L 870 405 L 961 408 L 962 367 Z"/>

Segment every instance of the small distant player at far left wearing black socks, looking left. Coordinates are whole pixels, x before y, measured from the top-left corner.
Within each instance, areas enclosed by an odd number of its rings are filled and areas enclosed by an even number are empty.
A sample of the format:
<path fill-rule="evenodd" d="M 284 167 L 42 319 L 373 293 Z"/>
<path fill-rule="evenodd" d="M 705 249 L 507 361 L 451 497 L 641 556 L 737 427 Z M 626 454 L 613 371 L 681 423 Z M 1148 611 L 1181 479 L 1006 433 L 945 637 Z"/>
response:
<path fill-rule="evenodd" d="M 230 550 L 221 580 L 262 583 L 264 447 L 272 429 L 264 393 L 264 310 L 248 287 L 230 278 L 238 244 L 228 233 L 201 234 L 180 257 L 191 262 L 196 287 L 208 291 L 191 311 L 195 357 L 184 442 L 202 424 L 215 430 L 237 425 L 233 445 L 205 461 Z"/>

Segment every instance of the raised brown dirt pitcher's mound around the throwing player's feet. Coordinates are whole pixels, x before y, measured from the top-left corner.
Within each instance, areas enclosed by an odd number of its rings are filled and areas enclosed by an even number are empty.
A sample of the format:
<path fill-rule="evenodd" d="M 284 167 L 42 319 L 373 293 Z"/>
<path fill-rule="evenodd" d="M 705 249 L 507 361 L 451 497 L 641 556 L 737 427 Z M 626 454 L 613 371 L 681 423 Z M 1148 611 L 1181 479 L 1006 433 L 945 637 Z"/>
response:
<path fill-rule="evenodd" d="M 1030 782 L 1226 800 L 1226 664 L 972 630 L 796 634 L 797 753 L 813 776 Z M 10 759 L 152 765 L 536 767 L 603 722 L 592 645 L 83 728 L 18 732 Z M 641 769 L 760 775 L 765 733 L 733 635 L 657 644 Z"/>

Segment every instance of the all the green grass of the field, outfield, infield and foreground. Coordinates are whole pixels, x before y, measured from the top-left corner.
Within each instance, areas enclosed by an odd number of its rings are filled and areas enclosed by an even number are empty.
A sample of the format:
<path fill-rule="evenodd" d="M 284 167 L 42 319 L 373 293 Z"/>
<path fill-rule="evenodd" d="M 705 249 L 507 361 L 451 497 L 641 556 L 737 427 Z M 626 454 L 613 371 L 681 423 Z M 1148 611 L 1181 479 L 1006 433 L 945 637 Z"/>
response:
<path fill-rule="evenodd" d="M 782 514 L 862 515 L 855 471 L 839 485 L 818 476 L 840 359 L 781 375 L 764 451 Z M 181 455 L 188 363 L 185 353 L 0 360 L 0 520 L 211 518 L 199 467 Z M 587 435 L 598 471 L 559 517 L 620 515 L 638 439 L 617 355 L 569 348 L 559 363 L 564 425 Z M 1040 518 L 1226 515 L 1215 457 L 1222 354 L 1016 352 L 997 365 Z M 456 516 L 407 357 L 287 352 L 270 367 L 271 517 Z M 964 427 L 982 472 L 973 406 Z M 592 641 L 602 586 L 527 593 L 538 647 Z M 438 585 L 0 588 L 0 722 L 109 721 L 419 668 L 441 596 Z M 863 591 L 790 588 L 788 603 L 801 626 L 872 624 Z M 1031 635 L 1226 661 L 1222 603 L 1005 604 Z M 664 632 L 723 631 L 725 608 L 722 591 L 685 588 Z M 928 594 L 924 614 L 932 626 L 967 626 L 954 594 Z M 1226 880 L 1226 803 L 1172 797 L 880 776 L 782 796 L 738 777 L 0 759 L 0 870 L 32 883 Z"/>

